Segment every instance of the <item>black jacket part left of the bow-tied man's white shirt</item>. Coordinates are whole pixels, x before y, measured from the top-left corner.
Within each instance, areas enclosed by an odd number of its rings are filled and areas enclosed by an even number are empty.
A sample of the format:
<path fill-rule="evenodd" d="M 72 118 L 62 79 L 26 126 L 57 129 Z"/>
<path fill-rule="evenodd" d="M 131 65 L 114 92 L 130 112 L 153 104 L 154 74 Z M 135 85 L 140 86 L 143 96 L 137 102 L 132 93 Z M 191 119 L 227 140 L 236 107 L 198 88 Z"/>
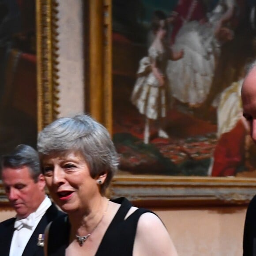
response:
<path fill-rule="evenodd" d="M 0 255 L 9 255 L 11 239 L 14 233 L 15 218 L 3 222 L 0 227 Z"/>

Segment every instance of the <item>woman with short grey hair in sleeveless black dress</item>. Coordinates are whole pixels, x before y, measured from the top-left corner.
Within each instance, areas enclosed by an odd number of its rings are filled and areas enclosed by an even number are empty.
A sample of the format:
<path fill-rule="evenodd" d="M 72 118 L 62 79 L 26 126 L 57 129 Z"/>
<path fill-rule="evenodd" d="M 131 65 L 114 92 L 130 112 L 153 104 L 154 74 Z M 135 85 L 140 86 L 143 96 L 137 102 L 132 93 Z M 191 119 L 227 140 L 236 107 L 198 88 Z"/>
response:
<path fill-rule="evenodd" d="M 158 216 L 106 197 L 118 156 L 104 126 L 83 114 L 60 118 L 39 133 L 38 151 L 50 195 L 67 213 L 46 228 L 45 255 L 177 255 Z"/>

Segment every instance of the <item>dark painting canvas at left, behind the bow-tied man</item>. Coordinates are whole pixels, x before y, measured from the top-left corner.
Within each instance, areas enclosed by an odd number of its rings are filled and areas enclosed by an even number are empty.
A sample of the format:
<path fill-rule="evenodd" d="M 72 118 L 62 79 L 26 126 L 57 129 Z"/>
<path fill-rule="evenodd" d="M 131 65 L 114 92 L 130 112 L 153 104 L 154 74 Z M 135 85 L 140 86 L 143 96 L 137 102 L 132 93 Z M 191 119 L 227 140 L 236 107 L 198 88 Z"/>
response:
<path fill-rule="evenodd" d="M 36 146 L 35 30 L 34 0 L 0 1 L 0 154 Z"/>

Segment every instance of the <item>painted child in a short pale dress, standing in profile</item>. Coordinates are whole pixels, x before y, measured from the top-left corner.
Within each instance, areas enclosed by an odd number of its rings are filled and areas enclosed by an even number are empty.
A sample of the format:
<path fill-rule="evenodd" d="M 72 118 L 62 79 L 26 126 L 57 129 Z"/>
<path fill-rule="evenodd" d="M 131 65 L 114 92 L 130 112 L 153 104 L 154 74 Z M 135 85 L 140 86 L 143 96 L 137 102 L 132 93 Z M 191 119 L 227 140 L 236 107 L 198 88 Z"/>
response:
<path fill-rule="evenodd" d="M 166 118 L 168 93 L 166 79 L 167 61 L 179 60 L 183 57 L 183 51 L 173 53 L 166 44 L 167 23 L 166 16 L 161 11 L 154 13 L 152 20 L 154 40 L 148 49 L 148 56 L 139 62 L 137 80 L 132 91 L 131 101 L 146 116 L 144 131 L 144 143 L 150 140 L 150 120 L 158 122 L 158 136 L 169 138 L 163 129 Z"/>

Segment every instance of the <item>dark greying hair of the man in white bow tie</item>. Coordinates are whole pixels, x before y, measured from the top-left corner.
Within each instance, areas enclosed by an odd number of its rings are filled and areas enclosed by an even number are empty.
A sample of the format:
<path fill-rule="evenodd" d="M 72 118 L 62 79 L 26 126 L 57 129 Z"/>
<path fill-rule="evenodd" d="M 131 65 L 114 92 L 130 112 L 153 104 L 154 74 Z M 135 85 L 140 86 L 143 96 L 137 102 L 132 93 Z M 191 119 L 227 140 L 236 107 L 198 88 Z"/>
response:
<path fill-rule="evenodd" d="M 1 175 L 4 168 L 17 169 L 26 166 L 30 169 L 31 178 L 38 181 L 41 174 L 39 155 L 33 147 L 20 144 L 10 153 L 1 156 Z"/>

